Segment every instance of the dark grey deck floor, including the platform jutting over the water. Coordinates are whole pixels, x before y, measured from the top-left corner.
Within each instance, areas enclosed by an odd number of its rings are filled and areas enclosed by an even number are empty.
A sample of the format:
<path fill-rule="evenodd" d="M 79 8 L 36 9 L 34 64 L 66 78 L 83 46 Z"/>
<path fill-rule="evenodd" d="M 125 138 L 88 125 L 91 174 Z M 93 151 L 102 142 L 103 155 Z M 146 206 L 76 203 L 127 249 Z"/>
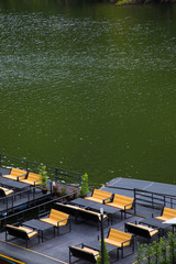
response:
<path fill-rule="evenodd" d="M 140 190 L 152 190 L 155 194 L 163 194 L 166 195 L 166 198 L 168 199 L 167 202 L 169 202 L 168 196 L 175 196 L 176 194 L 176 186 L 173 185 L 164 185 L 158 183 L 151 183 L 145 180 L 136 180 L 136 179 L 127 179 L 127 178 L 116 178 L 109 183 L 106 184 L 106 186 L 101 189 L 117 193 L 125 196 L 133 197 L 134 196 L 134 188 Z M 145 197 L 141 193 L 140 197 Z M 143 199 L 142 199 L 143 200 Z M 143 218 L 152 217 L 152 213 L 161 215 L 161 209 L 157 207 L 148 207 L 145 202 L 142 202 L 142 200 L 139 200 L 139 204 L 136 205 L 136 211 L 135 216 L 133 215 L 133 211 L 131 211 L 131 215 L 127 215 L 127 219 L 121 220 L 121 216 L 119 212 L 114 215 L 113 218 L 113 224 L 111 224 L 112 228 L 119 229 L 121 231 L 124 231 L 124 223 L 130 221 L 139 221 Z M 146 198 L 146 202 L 150 202 L 150 198 Z M 108 232 L 109 228 L 105 227 L 105 235 Z M 69 251 L 68 246 L 76 245 L 79 243 L 85 244 L 97 244 L 98 242 L 98 235 L 100 235 L 100 231 L 97 230 L 97 226 L 92 222 L 88 221 L 79 221 L 79 223 L 75 223 L 75 218 L 72 217 L 72 231 L 68 233 L 64 233 L 64 229 L 62 229 L 59 237 L 53 237 L 53 231 L 48 230 L 44 233 L 44 242 L 38 243 L 37 238 L 30 241 L 29 249 L 23 248 L 24 243 L 20 239 L 12 239 L 8 242 L 6 242 L 4 232 L 0 233 L 0 254 L 4 254 L 8 256 L 12 256 L 16 260 L 21 260 L 26 264 L 58 264 L 58 263 L 69 263 Z M 172 231 L 172 229 L 168 229 L 168 231 Z M 140 243 L 146 243 L 145 239 L 142 239 L 140 237 L 135 238 L 135 252 L 136 252 L 136 242 Z M 120 258 L 119 261 L 114 263 L 119 264 L 132 264 L 135 262 L 135 253 L 124 257 Z M 113 254 L 112 254 L 112 257 Z M 80 264 L 84 264 L 85 262 L 79 262 Z"/>

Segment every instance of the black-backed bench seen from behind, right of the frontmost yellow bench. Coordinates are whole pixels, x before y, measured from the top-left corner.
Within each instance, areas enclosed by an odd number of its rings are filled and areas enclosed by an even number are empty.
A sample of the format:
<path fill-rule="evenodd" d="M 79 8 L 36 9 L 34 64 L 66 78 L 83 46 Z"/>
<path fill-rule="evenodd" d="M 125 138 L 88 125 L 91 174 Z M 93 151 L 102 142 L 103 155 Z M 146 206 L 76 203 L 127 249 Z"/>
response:
<path fill-rule="evenodd" d="M 124 228 L 125 228 L 125 231 L 130 233 L 147 239 L 148 242 L 154 235 L 157 235 L 158 238 L 158 229 L 156 228 L 153 229 L 143 224 L 131 223 L 131 222 L 124 223 Z"/>

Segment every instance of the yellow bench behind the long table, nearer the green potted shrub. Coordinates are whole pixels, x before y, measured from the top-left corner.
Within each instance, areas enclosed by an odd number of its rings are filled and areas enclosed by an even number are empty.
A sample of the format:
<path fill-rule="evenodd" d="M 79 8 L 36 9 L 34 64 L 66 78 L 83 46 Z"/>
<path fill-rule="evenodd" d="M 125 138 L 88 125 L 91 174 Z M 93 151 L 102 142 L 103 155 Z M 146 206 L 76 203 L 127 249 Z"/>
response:
<path fill-rule="evenodd" d="M 94 189 L 92 193 L 91 193 L 91 196 L 90 197 L 85 197 L 85 199 L 103 204 L 105 199 L 108 202 L 108 201 L 111 200 L 111 197 L 112 197 L 111 193 L 100 190 L 100 189 Z"/>

